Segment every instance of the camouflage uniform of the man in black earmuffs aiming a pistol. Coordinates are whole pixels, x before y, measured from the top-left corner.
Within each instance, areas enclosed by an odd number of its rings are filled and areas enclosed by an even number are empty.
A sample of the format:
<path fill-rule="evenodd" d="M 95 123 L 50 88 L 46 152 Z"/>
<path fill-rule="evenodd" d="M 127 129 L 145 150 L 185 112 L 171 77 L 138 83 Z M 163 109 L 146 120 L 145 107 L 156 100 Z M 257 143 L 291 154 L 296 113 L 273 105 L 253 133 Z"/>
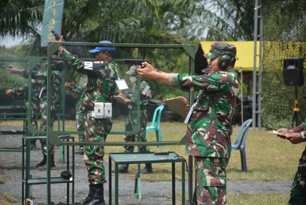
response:
<path fill-rule="evenodd" d="M 223 49 L 226 48 L 220 46 L 215 54 L 208 54 L 209 58 L 219 56 Z M 225 170 L 231 153 L 230 122 L 239 89 L 237 73 L 233 68 L 201 76 L 172 73 L 169 82 L 173 88 L 200 91 L 186 133 L 186 154 L 195 160 L 196 190 L 192 201 L 226 204 Z"/>

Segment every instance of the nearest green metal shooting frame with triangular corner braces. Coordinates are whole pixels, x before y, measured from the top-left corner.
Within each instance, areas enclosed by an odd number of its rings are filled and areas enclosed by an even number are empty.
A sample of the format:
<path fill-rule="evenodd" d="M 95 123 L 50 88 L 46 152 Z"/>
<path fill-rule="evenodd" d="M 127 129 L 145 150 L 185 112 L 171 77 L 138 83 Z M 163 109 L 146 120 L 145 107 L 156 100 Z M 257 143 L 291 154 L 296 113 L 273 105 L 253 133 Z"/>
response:
<path fill-rule="evenodd" d="M 51 192 L 50 192 L 50 146 L 51 145 L 86 145 L 86 146 L 156 146 L 156 145 L 182 145 L 184 144 L 184 138 L 181 141 L 167 141 L 167 142 L 63 142 L 59 139 L 59 134 L 79 134 L 83 132 L 70 132 L 70 131 L 53 131 L 51 129 L 51 61 L 52 55 L 54 52 L 57 51 L 57 49 L 60 46 L 68 46 L 68 45 L 74 45 L 74 46 L 100 46 L 100 47 L 116 47 L 116 48 L 172 48 L 172 49 L 184 49 L 188 55 L 189 55 L 189 72 L 190 74 L 194 74 L 194 66 L 195 66 L 195 52 L 196 52 L 196 46 L 195 45 L 188 45 L 188 44 L 179 44 L 179 45 L 173 45 L 173 44 L 101 44 L 101 43 L 84 43 L 84 42 L 48 42 L 48 78 L 47 78 L 47 203 L 51 203 Z M 138 76 L 138 82 L 140 82 L 140 77 Z M 138 83 L 138 93 L 137 93 L 138 99 L 140 99 L 140 83 Z M 190 92 L 189 94 L 190 99 L 193 99 L 193 93 Z M 192 103 L 189 103 L 189 106 L 191 106 Z M 140 104 L 138 101 L 137 104 L 137 126 L 134 130 L 131 132 L 110 132 L 109 134 L 137 134 L 140 132 Z M 192 164 L 192 157 L 189 156 L 189 164 Z M 191 171 L 191 172 L 190 172 Z M 138 167 L 138 172 L 140 177 L 140 164 Z M 136 177 L 137 177 L 136 174 Z M 191 177 L 191 178 L 190 178 Z M 192 166 L 189 165 L 189 200 L 192 199 L 190 197 L 192 195 Z M 191 185 L 191 186 L 190 186 Z M 184 194 L 184 193 L 182 193 Z M 141 196 L 140 196 L 141 197 Z"/>

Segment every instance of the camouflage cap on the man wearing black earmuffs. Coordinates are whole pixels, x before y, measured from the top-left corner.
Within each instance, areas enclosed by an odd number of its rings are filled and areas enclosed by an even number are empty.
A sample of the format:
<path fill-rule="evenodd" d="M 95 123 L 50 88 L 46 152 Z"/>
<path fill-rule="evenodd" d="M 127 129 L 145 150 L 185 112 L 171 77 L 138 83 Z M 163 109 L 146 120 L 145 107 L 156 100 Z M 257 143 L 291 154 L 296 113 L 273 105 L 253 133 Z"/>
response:
<path fill-rule="evenodd" d="M 222 53 L 229 56 L 236 56 L 237 49 L 233 44 L 224 43 L 224 42 L 215 42 L 211 45 L 209 53 L 204 54 L 203 56 L 208 59 L 213 59 L 220 56 Z"/>

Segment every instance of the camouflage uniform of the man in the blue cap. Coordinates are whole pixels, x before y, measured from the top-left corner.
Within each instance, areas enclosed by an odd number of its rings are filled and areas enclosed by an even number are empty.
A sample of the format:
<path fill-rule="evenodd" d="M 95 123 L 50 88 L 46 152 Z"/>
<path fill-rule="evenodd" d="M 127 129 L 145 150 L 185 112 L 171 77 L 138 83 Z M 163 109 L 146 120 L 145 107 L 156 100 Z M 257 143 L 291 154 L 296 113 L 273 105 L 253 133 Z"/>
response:
<path fill-rule="evenodd" d="M 76 71 L 87 74 L 85 91 L 80 98 L 79 109 L 86 116 L 85 142 L 105 142 L 107 134 L 112 128 L 110 118 L 95 119 L 91 117 L 95 102 L 112 103 L 116 90 L 115 80 L 118 79 L 117 64 L 115 61 L 102 62 L 104 65 L 95 70 L 88 70 L 78 56 L 72 55 L 66 49 L 62 55 Z M 100 61 L 99 61 L 100 62 Z M 106 182 L 103 165 L 103 146 L 84 146 L 84 161 L 88 170 L 88 182 L 103 184 Z"/>

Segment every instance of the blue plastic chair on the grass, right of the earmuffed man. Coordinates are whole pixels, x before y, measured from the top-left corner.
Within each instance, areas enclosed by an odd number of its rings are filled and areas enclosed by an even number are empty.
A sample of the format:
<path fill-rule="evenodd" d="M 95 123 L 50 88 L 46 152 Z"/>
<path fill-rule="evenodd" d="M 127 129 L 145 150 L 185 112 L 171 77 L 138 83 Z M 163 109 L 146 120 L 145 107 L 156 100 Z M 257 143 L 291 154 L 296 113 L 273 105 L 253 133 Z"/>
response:
<path fill-rule="evenodd" d="M 245 121 L 239 130 L 239 133 L 237 135 L 236 141 L 234 144 L 232 144 L 232 149 L 238 149 L 240 150 L 240 157 L 241 157 L 241 170 L 243 172 L 247 172 L 247 158 L 245 155 L 245 139 L 248 134 L 248 129 L 252 123 L 252 119 L 248 119 Z"/>

